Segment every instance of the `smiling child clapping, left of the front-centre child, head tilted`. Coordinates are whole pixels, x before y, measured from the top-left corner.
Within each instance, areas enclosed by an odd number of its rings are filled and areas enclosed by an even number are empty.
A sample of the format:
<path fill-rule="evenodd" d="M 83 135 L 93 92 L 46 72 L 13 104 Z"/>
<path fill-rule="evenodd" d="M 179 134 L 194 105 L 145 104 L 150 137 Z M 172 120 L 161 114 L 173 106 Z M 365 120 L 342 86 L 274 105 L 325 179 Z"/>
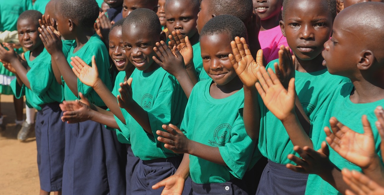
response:
<path fill-rule="evenodd" d="M 118 95 L 119 106 L 127 111 L 123 115 L 132 151 L 140 158 L 131 193 L 160 194 L 162 189 L 150 187 L 174 174 L 181 159 L 157 140 L 156 131 L 164 123 L 180 126 L 186 98 L 176 79 L 152 59 L 155 43 L 166 40 L 156 13 L 145 8 L 134 10 L 122 28 L 126 55 L 136 67 L 132 79 L 120 84 Z"/>

